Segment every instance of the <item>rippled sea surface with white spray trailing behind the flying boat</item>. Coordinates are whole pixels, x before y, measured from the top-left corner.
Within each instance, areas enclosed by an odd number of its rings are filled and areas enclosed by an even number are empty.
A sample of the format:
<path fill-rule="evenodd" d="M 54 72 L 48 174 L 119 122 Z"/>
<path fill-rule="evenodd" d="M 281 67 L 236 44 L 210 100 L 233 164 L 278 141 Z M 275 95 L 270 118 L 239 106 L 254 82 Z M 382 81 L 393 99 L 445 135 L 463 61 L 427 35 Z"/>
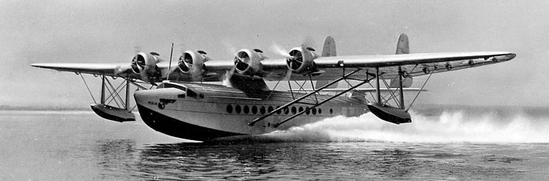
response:
<path fill-rule="evenodd" d="M 0 111 L 0 180 L 549 180 L 549 109 L 417 107 L 204 144 L 91 111 Z M 289 139 L 296 140 L 296 139 Z"/>

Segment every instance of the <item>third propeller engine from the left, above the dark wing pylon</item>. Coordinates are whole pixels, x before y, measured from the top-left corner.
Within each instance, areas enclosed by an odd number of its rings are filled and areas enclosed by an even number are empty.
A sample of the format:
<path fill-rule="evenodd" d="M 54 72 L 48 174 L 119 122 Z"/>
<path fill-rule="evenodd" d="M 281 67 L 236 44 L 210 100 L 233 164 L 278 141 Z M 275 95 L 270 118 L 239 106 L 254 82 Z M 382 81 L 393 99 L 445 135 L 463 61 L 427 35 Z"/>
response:
<path fill-rule="evenodd" d="M 263 64 L 266 59 L 260 50 L 242 49 L 235 53 L 235 70 L 240 74 L 262 76 Z"/>

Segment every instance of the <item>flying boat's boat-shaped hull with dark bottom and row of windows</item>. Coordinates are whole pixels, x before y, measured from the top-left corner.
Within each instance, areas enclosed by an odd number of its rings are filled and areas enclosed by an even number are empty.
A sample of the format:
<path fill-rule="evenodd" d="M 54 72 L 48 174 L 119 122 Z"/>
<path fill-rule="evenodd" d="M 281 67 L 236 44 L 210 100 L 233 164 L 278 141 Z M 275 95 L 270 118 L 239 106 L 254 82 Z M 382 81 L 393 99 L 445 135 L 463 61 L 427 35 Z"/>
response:
<path fill-rule="evenodd" d="M 187 91 L 189 91 L 189 88 L 187 88 Z M 235 92 L 237 89 L 231 89 L 231 91 Z M 178 98 L 178 95 L 181 94 L 185 93 L 175 88 L 135 92 L 135 100 L 143 122 L 150 128 L 172 137 L 209 141 L 220 137 L 262 135 L 276 130 L 286 130 L 292 126 L 318 122 L 336 115 L 361 115 L 367 111 L 366 105 L 359 107 L 358 101 L 352 98 L 344 98 L 354 104 L 346 104 L 347 106 L 345 106 L 342 105 L 343 102 L 336 101 L 333 104 L 327 104 L 316 109 L 314 114 L 312 112 L 303 114 L 295 120 L 275 128 L 274 124 L 292 115 L 292 109 L 299 110 L 305 105 L 292 107 L 288 111 L 281 111 L 280 114 L 272 115 L 254 126 L 249 126 L 248 123 L 261 116 L 261 113 L 264 114 L 268 109 L 274 109 L 277 105 L 283 105 L 283 102 L 287 102 L 285 96 L 291 98 L 291 95 L 286 95 L 290 93 L 274 94 L 277 96 L 262 100 L 242 97 L 220 98 L 221 96 L 215 98 L 215 94 L 220 94 L 218 92 L 208 94 L 205 98 Z M 198 92 L 198 94 L 206 93 Z M 357 106 L 349 107 L 350 105 Z M 237 113 L 236 107 L 240 107 L 241 110 L 238 111 L 240 113 Z M 244 109 L 247 109 L 247 111 Z"/>

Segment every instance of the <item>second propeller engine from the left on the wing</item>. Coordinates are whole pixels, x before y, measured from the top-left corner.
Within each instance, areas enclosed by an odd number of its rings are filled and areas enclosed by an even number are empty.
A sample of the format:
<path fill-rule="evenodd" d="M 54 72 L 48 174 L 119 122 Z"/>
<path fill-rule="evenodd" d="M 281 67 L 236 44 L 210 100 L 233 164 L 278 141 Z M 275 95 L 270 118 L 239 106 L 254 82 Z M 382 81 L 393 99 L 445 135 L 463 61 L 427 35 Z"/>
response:
<path fill-rule="evenodd" d="M 210 58 L 204 51 L 185 51 L 178 61 L 178 69 L 189 74 L 192 81 L 201 81 L 204 78 L 204 62 Z"/>

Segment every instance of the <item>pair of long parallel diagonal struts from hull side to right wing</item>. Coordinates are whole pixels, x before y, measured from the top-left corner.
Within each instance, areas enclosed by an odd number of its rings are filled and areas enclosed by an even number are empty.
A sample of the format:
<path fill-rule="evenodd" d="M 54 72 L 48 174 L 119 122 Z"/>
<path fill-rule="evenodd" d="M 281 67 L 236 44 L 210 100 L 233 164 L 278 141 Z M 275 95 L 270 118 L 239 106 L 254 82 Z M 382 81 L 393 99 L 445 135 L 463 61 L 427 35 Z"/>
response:
<path fill-rule="evenodd" d="M 261 116 L 261 117 L 258 117 L 256 118 L 255 120 L 253 120 L 252 122 L 248 123 L 249 126 L 254 126 L 257 122 L 260 122 L 261 120 L 264 120 L 266 117 L 269 117 L 270 115 L 274 114 L 274 113 L 277 113 L 278 111 L 281 111 L 283 109 L 286 109 L 288 107 L 290 107 L 291 105 L 294 105 L 296 103 L 300 103 L 299 101 L 305 99 L 305 98 L 308 98 L 309 96 L 312 96 L 313 94 L 316 94 L 317 92 L 320 92 L 322 91 L 323 89 L 325 89 L 326 87 L 329 87 L 330 85 L 333 85 L 335 83 L 338 83 L 339 81 L 342 81 L 344 79 L 347 79 L 349 76 L 355 74 L 356 72 L 360 71 L 362 69 L 360 68 L 357 68 L 356 70 L 353 70 L 353 72 L 349 72 L 349 74 L 345 74 L 343 76 L 341 76 L 340 78 L 334 80 L 334 81 L 331 81 L 330 83 L 327 83 L 326 85 L 323 85 L 322 87 L 318 88 L 318 89 L 315 89 L 313 92 L 309 92 L 308 94 L 305 94 L 305 96 L 302 96 L 301 98 L 297 98 L 297 99 L 294 99 L 292 102 L 288 102 L 287 104 L 277 108 L 277 109 L 274 109 L 272 111 L 270 111 L 269 113 L 266 113 L 265 115 Z M 373 79 L 373 78 L 371 78 Z M 364 84 L 364 83 L 368 83 L 371 79 L 368 79 L 368 77 L 366 76 L 366 80 L 362 80 L 362 83 L 360 83 L 358 86 Z M 356 86 L 356 87 L 358 87 Z M 346 92 L 349 92 L 351 89 L 354 89 L 356 87 L 351 87 L 349 89 L 347 89 L 346 91 L 342 92 L 342 93 L 346 93 Z M 291 90 L 291 88 L 290 88 Z M 293 94 L 292 94 L 293 95 Z M 336 98 L 337 96 L 340 96 L 342 94 L 336 94 L 335 96 L 331 97 L 331 98 L 328 98 L 327 100 L 331 100 L 333 98 Z M 298 116 L 298 115 L 301 115 L 303 113 L 305 113 L 305 111 L 309 111 L 310 109 L 314 108 L 314 107 L 317 107 L 319 105 L 322 105 L 324 104 L 325 102 L 327 102 L 327 100 L 324 100 L 323 102 L 318 102 L 318 104 L 314 104 L 313 107 L 309 107 L 309 109 L 305 109 L 304 111 L 301 111 L 299 113 L 297 113 L 296 115 L 292 116 L 292 117 L 288 117 L 288 119 L 286 120 L 283 120 L 277 124 L 274 124 L 274 127 L 276 128 L 277 126 L 279 126 L 280 124 L 283 124 L 284 122 L 288 122 L 288 120 L 291 120 L 293 119 L 294 117 Z"/>

